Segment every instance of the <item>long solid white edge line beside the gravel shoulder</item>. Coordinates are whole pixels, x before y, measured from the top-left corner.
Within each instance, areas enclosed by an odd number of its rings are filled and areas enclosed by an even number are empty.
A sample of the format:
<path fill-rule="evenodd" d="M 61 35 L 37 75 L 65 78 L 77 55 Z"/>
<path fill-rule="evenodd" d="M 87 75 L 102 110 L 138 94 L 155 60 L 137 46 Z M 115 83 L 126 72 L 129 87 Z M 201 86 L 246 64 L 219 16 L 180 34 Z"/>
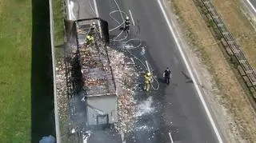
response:
<path fill-rule="evenodd" d="M 214 123 L 214 119 L 213 119 L 213 117 L 211 116 L 210 111 L 209 111 L 209 109 L 208 109 L 208 107 L 207 107 L 207 105 L 206 105 L 206 101 L 205 101 L 204 98 L 202 97 L 202 92 L 201 92 L 201 90 L 200 90 L 199 87 L 198 87 L 198 81 L 195 80 L 194 73 L 192 72 L 189 63 L 187 62 L 186 57 L 185 57 L 185 54 L 184 54 L 184 52 L 182 51 L 182 47 L 180 46 L 180 44 L 179 44 L 179 42 L 178 42 L 178 38 L 176 37 L 176 35 L 175 35 L 175 33 L 174 33 L 174 28 L 171 26 L 170 21 L 168 20 L 166 11 L 164 10 L 164 8 L 163 8 L 162 3 L 161 3 L 160 0 L 158 0 L 158 4 L 159 4 L 159 6 L 160 6 L 160 8 L 161 8 L 161 10 L 162 10 L 162 14 L 164 15 L 164 18 L 166 19 L 166 22 L 167 22 L 167 25 L 169 26 L 170 32 L 171 32 L 171 34 L 172 34 L 173 37 L 174 37 L 174 41 L 176 42 L 176 44 L 177 44 L 177 46 L 178 46 L 178 50 L 179 50 L 180 54 L 182 55 L 182 59 L 183 59 L 183 61 L 185 62 L 186 68 L 187 68 L 187 70 L 188 70 L 189 73 L 190 73 L 190 77 L 191 77 L 192 81 L 194 82 L 194 87 L 195 87 L 195 89 L 196 89 L 197 92 L 198 92 L 198 96 L 199 96 L 200 100 L 202 101 L 202 105 L 203 105 L 204 109 L 206 110 L 206 114 L 207 114 L 207 116 L 208 116 L 208 118 L 209 118 L 209 120 L 210 120 L 210 124 L 211 124 L 212 127 L 214 128 L 214 133 L 215 133 L 216 136 L 218 137 L 218 142 L 222 143 L 222 142 L 223 142 L 223 141 L 222 141 L 222 137 L 220 136 L 220 134 L 219 134 L 219 132 L 218 132 L 218 129 L 217 129 L 215 123 Z"/>

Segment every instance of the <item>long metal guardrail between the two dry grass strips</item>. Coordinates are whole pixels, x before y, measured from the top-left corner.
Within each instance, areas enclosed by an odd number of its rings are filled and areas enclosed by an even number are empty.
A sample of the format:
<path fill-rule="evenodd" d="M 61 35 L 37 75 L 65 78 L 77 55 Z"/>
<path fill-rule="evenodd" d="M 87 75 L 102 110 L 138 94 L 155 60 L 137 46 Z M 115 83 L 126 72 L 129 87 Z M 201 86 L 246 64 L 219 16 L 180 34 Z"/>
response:
<path fill-rule="evenodd" d="M 225 46 L 227 54 L 231 57 L 231 60 L 237 66 L 242 79 L 246 82 L 247 87 L 250 90 L 256 101 L 256 71 L 250 66 L 245 55 L 241 50 L 238 42 L 233 38 L 230 31 L 227 30 L 225 23 L 220 18 L 218 12 L 215 10 L 214 5 L 210 0 L 201 0 L 203 6 L 206 8 L 206 13 L 210 15 L 210 20 L 214 22 L 220 32 L 222 38 L 222 45 Z"/>

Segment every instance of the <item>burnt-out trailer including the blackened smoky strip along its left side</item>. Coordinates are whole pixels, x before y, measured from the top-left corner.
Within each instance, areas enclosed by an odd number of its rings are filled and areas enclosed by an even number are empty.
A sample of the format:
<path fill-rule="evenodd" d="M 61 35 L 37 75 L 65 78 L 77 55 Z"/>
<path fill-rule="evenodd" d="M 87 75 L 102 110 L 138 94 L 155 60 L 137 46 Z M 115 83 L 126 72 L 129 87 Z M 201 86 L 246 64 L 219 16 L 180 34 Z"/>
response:
<path fill-rule="evenodd" d="M 96 23 L 94 29 L 92 23 Z M 99 18 L 66 22 L 66 87 L 70 132 L 110 127 L 118 122 L 118 96 L 110 59 L 107 22 Z M 90 43 L 87 36 L 93 36 Z"/>

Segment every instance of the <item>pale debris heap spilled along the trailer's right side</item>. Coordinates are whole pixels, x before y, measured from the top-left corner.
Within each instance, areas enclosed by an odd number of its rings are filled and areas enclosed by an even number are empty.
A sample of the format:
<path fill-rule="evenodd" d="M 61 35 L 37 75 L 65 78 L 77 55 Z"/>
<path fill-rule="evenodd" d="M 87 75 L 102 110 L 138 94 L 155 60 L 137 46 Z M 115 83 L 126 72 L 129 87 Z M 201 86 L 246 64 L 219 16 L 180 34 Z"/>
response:
<path fill-rule="evenodd" d="M 139 74 L 135 67 L 127 66 L 126 56 L 117 50 L 108 48 L 110 62 L 114 73 L 114 79 L 118 92 L 118 124 L 117 129 L 124 133 L 130 133 L 134 130 L 135 121 L 135 86 Z"/>

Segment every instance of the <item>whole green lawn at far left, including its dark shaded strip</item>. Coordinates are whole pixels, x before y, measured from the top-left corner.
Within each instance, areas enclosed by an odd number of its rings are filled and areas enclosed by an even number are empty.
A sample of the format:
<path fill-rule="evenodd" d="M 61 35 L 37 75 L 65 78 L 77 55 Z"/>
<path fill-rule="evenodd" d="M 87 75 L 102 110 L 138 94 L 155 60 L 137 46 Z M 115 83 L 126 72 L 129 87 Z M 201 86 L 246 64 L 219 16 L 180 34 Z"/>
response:
<path fill-rule="evenodd" d="M 0 142 L 54 135 L 49 4 L 0 2 Z"/>

